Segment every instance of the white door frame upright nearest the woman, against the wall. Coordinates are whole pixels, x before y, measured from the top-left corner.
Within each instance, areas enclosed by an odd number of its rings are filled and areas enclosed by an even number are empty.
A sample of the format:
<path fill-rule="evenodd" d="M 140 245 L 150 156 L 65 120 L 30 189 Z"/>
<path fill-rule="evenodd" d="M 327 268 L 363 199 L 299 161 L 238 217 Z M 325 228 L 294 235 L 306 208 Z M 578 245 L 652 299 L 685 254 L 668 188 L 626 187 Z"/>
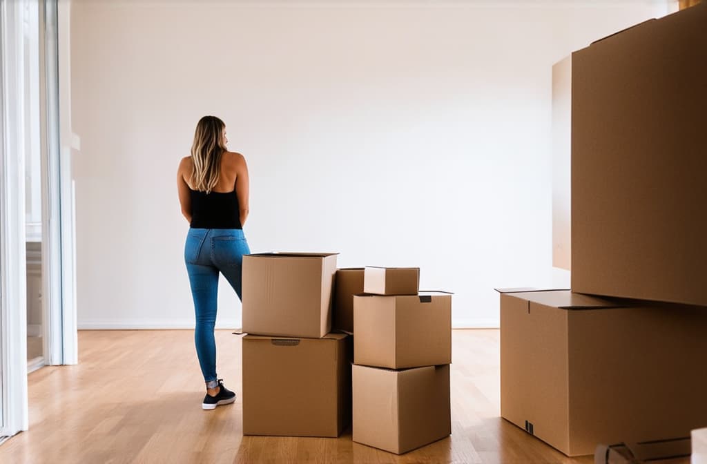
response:
<path fill-rule="evenodd" d="M 78 363 L 76 234 L 71 157 L 69 1 L 41 0 L 42 35 L 42 274 L 46 364 Z"/>

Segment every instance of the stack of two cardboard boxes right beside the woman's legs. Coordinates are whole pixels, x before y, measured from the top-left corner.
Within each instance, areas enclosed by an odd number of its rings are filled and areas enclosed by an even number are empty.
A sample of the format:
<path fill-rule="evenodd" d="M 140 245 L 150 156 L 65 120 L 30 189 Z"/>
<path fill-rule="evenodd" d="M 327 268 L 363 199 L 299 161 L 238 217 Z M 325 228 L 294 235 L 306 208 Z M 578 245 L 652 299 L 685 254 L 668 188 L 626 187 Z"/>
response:
<path fill-rule="evenodd" d="M 330 333 L 337 255 L 243 257 L 243 434 L 330 436 L 351 421 L 351 337 Z"/>

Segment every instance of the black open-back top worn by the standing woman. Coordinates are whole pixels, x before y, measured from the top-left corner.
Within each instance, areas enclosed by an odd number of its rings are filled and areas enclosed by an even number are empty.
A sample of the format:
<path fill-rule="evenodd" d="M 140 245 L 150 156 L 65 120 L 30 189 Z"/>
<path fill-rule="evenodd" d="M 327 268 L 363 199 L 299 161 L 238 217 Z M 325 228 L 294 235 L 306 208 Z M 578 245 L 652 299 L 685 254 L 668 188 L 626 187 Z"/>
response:
<path fill-rule="evenodd" d="M 243 228 L 240 224 L 238 195 L 233 192 L 199 192 L 189 189 L 192 197 L 192 228 Z"/>

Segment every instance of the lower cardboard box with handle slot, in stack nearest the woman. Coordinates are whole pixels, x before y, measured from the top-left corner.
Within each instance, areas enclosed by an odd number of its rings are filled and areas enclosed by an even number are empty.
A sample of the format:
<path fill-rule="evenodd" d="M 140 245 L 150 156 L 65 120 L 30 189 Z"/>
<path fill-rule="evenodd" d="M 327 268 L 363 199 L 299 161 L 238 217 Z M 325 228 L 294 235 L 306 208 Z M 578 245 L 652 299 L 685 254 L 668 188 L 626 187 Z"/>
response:
<path fill-rule="evenodd" d="M 351 337 L 243 337 L 243 434 L 339 436 L 351 424 Z"/>

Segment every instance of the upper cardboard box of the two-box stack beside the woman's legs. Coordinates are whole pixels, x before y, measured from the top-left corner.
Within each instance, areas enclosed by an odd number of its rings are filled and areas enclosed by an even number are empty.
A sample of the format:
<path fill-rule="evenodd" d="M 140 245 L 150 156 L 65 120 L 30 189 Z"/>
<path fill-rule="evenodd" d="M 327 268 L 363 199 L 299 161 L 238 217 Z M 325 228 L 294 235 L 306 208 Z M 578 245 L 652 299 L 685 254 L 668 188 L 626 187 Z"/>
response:
<path fill-rule="evenodd" d="M 261 253 L 243 257 L 243 331 L 324 337 L 332 327 L 335 253 Z"/>

